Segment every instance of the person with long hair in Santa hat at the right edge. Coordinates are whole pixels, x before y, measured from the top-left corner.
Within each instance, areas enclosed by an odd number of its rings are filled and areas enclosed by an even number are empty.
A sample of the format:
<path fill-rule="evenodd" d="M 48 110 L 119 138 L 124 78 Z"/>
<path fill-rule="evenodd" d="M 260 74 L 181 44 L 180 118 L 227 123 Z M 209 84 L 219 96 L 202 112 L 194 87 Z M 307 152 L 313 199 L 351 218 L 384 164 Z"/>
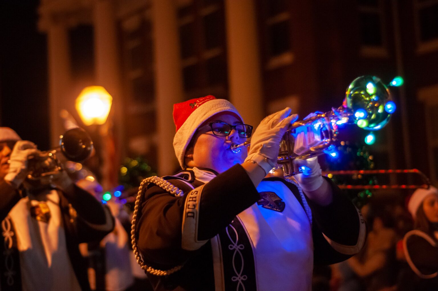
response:
<path fill-rule="evenodd" d="M 410 197 L 408 210 L 414 230 L 403 238 L 410 272 L 404 270 L 398 290 L 432 291 L 438 287 L 438 189 L 419 188 Z"/>

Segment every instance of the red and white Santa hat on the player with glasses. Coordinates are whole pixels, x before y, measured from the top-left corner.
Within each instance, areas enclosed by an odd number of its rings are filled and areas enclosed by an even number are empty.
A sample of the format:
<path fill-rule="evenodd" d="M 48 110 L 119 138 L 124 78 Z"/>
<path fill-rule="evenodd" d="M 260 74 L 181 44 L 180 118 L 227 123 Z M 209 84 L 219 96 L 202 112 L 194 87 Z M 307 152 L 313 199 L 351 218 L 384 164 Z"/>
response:
<path fill-rule="evenodd" d="M 175 133 L 173 138 L 173 148 L 181 168 L 185 168 L 184 154 L 198 127 L 219 112 L 233 112 L 243 122 L 242 117 L 233 104 L 225 99 L 216 99 L 212 95 L 194 98 L 173 105 L 173 122 L 177 127 L 177 133 Z"/>

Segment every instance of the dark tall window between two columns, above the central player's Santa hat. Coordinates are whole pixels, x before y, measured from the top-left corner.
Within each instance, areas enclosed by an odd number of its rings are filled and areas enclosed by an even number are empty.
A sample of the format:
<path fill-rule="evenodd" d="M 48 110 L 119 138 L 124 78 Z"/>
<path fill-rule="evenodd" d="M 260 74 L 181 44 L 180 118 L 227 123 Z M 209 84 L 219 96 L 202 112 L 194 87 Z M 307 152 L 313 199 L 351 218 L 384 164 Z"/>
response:
<path fill-rule="evenodd" d="M 226 91 L 228 80 L 223 3 L 223 0 L 192 0 L 190 5 L 179 8 L 186 97 L 197 96 L 201 92 L 211 94 L 215 88 Z"/>

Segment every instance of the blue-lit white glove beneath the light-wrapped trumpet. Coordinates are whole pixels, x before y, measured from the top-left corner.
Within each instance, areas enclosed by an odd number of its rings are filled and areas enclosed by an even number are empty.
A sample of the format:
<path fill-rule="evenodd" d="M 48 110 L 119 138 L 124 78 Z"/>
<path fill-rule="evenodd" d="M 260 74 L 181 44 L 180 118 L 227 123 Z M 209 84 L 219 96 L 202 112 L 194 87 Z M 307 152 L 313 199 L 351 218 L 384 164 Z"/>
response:
<path fill-rule="evenodd" d="M 318 157 L 313 157 L 307 160 L 296 158 L 293 163 L 297 165 L 302 171 L 302 174 L 293 176 L 297 180 L 301 189 L 307 192 L 315 191 L 321 187 L 324 182 L 321 174 L 321 166 L 318 163 Z"/>

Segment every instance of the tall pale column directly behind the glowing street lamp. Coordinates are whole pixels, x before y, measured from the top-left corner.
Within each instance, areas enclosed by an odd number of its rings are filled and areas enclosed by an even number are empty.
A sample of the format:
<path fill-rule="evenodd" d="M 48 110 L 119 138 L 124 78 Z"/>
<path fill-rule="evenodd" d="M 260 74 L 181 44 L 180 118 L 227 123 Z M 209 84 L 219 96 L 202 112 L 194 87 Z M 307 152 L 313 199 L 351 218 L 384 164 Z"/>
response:
<path fill-rule="evenodd" d="M 106 88 L 113 96 L 113 105 L 106 126 L 101 128 L 102 186 L 109 189 L 117 182 L 115 179 L 117 179 L 120 156 L 124 155 L 124 149 L 121 146 L 124 139 L 123 102 L 121 100 L 119 51 L 113 0 L 96 0 L 93 19 L 96 84 Z M 110 137 L 111 132 L 114 132 L 114 139 Z M 114 151 L 110 150 L 109 143 L 115 144 L 115 154 Z"/>

